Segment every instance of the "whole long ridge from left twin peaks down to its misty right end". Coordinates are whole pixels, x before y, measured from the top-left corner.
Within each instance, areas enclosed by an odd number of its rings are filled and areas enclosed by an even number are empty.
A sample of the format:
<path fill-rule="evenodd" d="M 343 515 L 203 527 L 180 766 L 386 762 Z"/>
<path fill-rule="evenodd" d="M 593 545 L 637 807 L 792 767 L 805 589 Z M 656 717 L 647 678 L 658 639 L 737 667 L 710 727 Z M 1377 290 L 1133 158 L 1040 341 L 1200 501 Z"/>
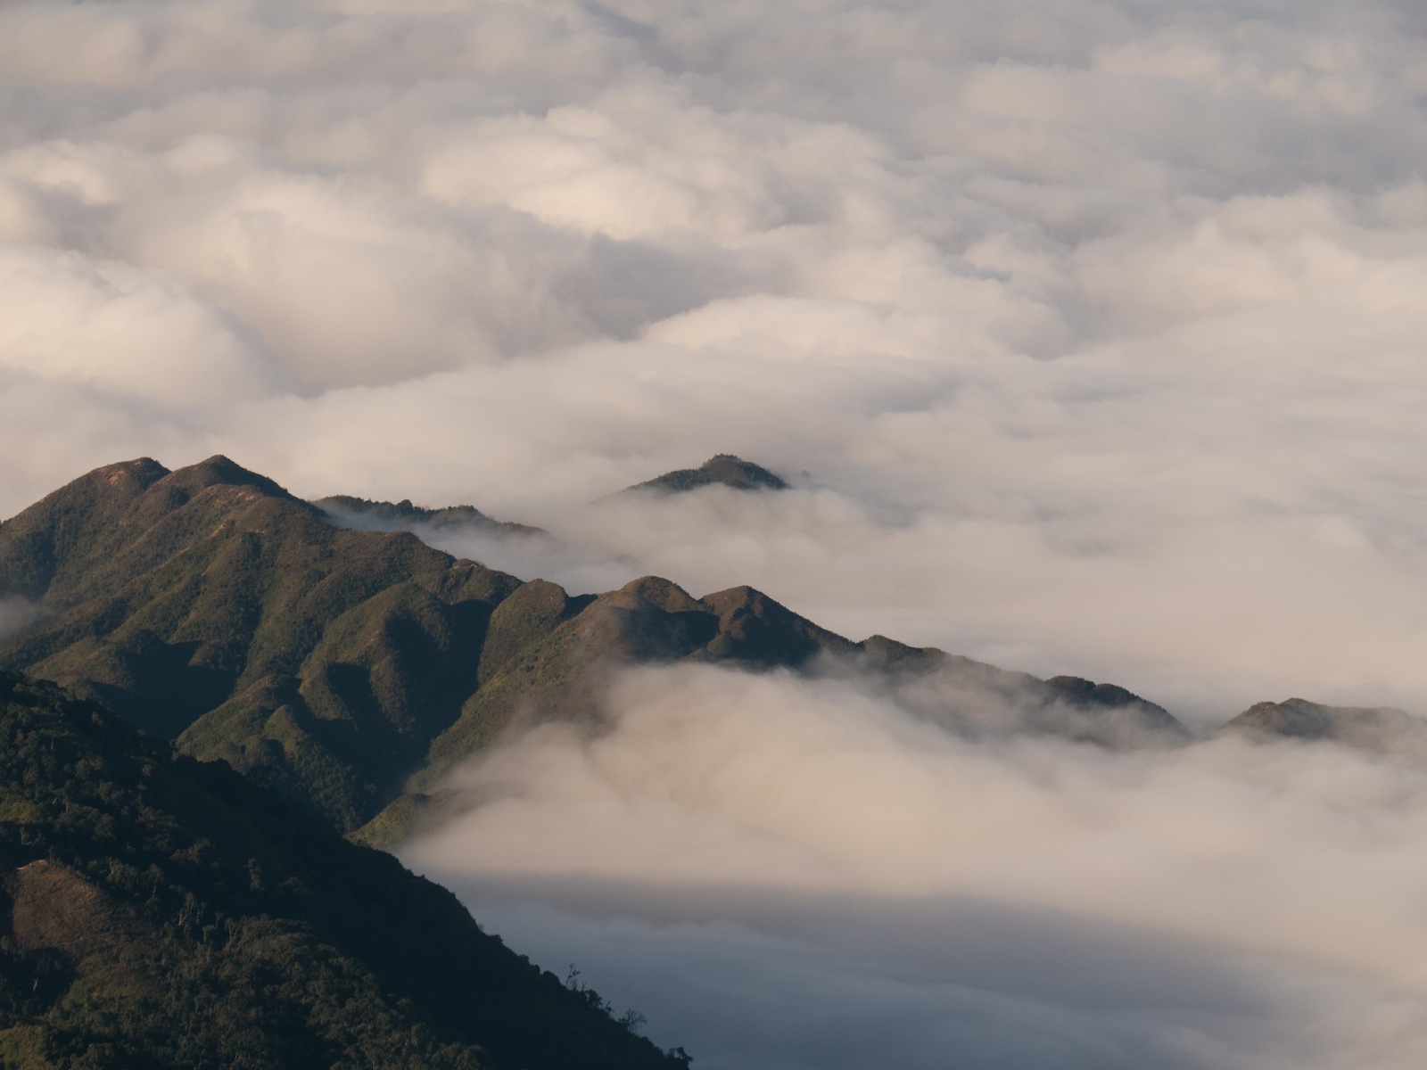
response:
<path fill-rule="evenodd" d="M 110 465 L 0 525 L 0 595 L 53 612 L 0 643 L 0 669 L 225 759 L 342 830 L 392 800 L 420 810 L 410 778 L 430 789 L 521 718 L 594 715 L 611 668 L 651 661 L 870 675 L 955 730 L 1112 746 L 1183 732 L 1123 689 L 850 642 L 746 586 L 521 584 L 407 532 L 340 529 L 221 457 Z"/>

